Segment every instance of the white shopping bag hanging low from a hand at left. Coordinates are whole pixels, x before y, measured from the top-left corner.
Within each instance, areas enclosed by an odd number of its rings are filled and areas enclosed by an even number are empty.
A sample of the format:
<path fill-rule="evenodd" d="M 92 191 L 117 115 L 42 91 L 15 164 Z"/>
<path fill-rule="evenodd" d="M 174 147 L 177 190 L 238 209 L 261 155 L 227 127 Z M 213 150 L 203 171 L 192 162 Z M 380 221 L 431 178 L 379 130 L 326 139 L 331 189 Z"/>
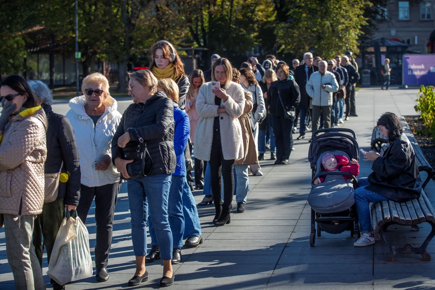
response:
<path fill-rule="evenodd" d="M 77 212 L 74 213 L 75 218 L 66 212 L 48 264 L 47 275 L 60 285 L 92 277 L 89 234 Z"/>

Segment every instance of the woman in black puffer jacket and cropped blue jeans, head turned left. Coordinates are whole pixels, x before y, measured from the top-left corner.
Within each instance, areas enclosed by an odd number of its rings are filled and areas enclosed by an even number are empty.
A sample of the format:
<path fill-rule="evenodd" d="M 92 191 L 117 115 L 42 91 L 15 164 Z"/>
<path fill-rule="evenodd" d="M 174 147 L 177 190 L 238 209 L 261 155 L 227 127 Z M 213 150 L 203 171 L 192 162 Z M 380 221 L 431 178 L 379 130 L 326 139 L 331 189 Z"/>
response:
<path fill-rule="evenodd" d="M 157 79 L 150 70 L 130 73 L 128 94 L 133 98 L 133 103 L 125 110 L 112 140 L 112 160 L 128 180 L 131 238 L 136 256 L 136 272 L 128 284 L 134 286 L 148 280 L 145 255 L 147 217 L 150 213 L 163 260 L 160 286 L 170 286 L 174 283 L 174 271 L 171 265 L 172 233 L 168 220 L 168 197 L 171 176 L 177 166 L 174 151 L 174 105 L 165 93 L 157 91 Z M 123 150 L 141 147 L 142 143 L 146 144 L 149 153 L 144 157 L 147 175 L 130 179 L 127 164 L 134 160 L 124 160 Z"/>

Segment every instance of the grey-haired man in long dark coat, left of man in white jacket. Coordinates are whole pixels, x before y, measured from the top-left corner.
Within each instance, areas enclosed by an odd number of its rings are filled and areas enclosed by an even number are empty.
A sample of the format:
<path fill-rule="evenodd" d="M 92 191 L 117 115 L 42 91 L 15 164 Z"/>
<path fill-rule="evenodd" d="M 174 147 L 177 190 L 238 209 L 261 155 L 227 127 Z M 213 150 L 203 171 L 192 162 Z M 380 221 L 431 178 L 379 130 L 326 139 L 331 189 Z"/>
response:
<path fill-rule="evenodd" d="M 304 53 L 304 61 L 303 65 L 296 67 L 294 73 L 294 81 L 298 83 L 299 90 L 301 91 L 301 101 L 299 102 L 296 110 L 299 110 L 299 119 L 300 127 L 299 127 L 299 139 L 305 138 L 305 118 L 307 117 L 307 110 L 310 107 L 310 96 L 308 96 L 307 91 L 305 90 L 305 85 L 307 84 L 308 79 L 311 76 L 311 73 L 318 71 L 319 68 L 312 65 L 313 64 L 313 54 L 311 52 Z M 296 124 L 294 124 L 296 127 Z"/>

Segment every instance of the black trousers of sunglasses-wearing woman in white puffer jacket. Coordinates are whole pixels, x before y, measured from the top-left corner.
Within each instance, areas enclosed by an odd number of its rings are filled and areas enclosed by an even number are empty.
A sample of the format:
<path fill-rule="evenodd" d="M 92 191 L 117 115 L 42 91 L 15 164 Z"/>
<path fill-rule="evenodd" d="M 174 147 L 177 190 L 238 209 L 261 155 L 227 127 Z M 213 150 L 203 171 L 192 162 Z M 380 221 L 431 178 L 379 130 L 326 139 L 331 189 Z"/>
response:
<path fill-rule="evenodd" d="M 95 245 L 95 267 L 107 267 L 112 244 L 113 215 L 120 183 L 87 187 L 80 184 L 80 201 L 77 214 L 86 222 L 92 201 L 95 199 L 95 223 L 97 224 L 97 243 Z"/>

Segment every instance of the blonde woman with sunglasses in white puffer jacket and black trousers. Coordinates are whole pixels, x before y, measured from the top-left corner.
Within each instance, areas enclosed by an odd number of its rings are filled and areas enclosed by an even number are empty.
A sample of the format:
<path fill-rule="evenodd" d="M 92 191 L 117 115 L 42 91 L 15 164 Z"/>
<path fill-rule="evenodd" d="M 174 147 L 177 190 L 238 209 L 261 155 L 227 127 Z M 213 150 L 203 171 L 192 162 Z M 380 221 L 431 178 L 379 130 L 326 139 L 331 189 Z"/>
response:
<path fill-rule="evenodd" d="M 112 164 L 111 140 L 121 120 L 117 102 L 110 97 L 109 82 L 92 73 L 82 83 L 83 96 L 70 100 L 67 118 L 74 128 L 80 156 L 80 200 L 77 213 L 85 223 L 95 199 L 97 281 L 107 281 L 107 262 L 112 242 L 113 216 L 120 175 Z"/>

